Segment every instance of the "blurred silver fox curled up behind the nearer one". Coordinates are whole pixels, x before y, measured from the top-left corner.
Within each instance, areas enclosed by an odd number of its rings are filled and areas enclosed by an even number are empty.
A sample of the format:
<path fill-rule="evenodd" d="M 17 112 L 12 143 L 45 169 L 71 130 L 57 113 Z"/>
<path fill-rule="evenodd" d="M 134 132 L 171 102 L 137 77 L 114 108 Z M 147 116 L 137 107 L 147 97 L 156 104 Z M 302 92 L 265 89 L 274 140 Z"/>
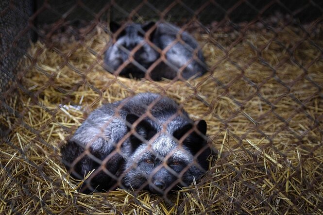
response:
<path fill-rule="evenodd" d="M 112 33 L 119 33 L 116 42 L 110 42 L 110 47 L 105 52 L 104 67 L 111 73 L 144 78 L 147 69 L 153 65 L 149 76 L 152 80 L 159 81 L 175 77 L 189 79 L 206 72 L 204 57 L 197 41 L 189 33 L 181 32 L 168 22 L 149 22 L 143 25 L 128 22 L 123 30 L 119 24 L 111 22 L 110 30 Z M 149 30 L 152 32 L 147 33 Z M 154 47 L 146 41 L 146 33 Z M 180 41 L 176 41 L 178 37 L 181 38 Z M 134 49 L 136 50 L 132 51 Z M 163 50 L 166 51 L 166 61 L 156 62 Z M 130 55 L 133 60 L 130 60 Z"/>

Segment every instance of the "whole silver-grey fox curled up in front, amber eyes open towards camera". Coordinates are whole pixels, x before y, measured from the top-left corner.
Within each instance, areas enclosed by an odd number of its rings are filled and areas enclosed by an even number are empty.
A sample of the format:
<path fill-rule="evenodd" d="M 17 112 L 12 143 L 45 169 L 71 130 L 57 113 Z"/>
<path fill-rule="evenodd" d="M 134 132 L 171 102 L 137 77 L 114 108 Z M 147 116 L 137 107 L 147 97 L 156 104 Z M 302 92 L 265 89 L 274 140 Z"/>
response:
<path fill-rule="evenodd" d="M 165 194 L 208 167 L 206 122 L 192 121 L 175 101 L 141 93 L 93 111 L 62 147 L 75 178 L 95 169 L 81 192 L 123 188 Z"/>

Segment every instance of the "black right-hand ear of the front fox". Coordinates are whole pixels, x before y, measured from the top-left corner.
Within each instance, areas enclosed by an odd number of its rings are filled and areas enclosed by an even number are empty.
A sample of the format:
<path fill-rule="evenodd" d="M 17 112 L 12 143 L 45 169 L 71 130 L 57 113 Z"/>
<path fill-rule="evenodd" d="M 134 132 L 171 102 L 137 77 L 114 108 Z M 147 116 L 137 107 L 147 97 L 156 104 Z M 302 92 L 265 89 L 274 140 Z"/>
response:
<path fill-rule="evenodd" d="M 196 128 L 199 132 L 191 131 L 190 130 L 194 127 L 193 124 L 189 123 L 183 126 L 182 128 L 176 130 L 173 133 L 173 136 L 176 139 L 181 139 L 185 134 L 187 137 L 183 140 L 183 145 L 187 146 L 188 149 L 191 150 L 193 154 L 197 153 L 200 149 L 202 149 L 206 144 L 206 129 L 207 125 L 204 120 L 199 120 L 196 125 Z"/>

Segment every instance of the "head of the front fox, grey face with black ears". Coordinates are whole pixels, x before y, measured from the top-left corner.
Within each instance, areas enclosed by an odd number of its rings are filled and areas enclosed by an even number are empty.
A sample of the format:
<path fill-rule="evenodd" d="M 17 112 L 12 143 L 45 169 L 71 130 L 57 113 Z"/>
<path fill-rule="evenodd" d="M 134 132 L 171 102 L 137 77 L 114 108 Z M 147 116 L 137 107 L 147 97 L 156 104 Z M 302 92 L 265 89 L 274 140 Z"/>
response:
<path fill-rule="evenodd" d="M 128 122 L 134 120 L 136 116 L 127 116 Z M 200 178 L 209 154 L 205 133 L 204 120 L 196 125 L 173 123 L 165 132 L 157 132 L 147 120 L 140 121 L 130 137 L 133 153 L 125 164 L 124 185 L 166 194 Z"/>

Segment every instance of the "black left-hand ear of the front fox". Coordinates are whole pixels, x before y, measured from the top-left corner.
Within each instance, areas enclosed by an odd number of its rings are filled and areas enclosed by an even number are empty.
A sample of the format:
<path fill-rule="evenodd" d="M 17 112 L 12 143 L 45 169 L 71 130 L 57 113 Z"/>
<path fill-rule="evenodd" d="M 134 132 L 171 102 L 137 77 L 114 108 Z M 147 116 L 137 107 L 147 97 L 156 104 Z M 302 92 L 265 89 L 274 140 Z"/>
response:
<path fill-rule="evenodd" d="M 128 114 L 126 116 L 127 120 L 127 128 L 130 132 L 133 124 L 139 119 L 139 116 L 136 116 L 135 114 Z M 150 140 L 153 135 L 156 134 L 156 130 L 153 128 L 153 126 L 145 119 L 138 122 L 135 128 L 136 133 L 131 134 L 130 136 L 130 142 L 133 147 L 133 149 L 136 149 L 139 145 L 146 142 L 147 140 Z"/>

